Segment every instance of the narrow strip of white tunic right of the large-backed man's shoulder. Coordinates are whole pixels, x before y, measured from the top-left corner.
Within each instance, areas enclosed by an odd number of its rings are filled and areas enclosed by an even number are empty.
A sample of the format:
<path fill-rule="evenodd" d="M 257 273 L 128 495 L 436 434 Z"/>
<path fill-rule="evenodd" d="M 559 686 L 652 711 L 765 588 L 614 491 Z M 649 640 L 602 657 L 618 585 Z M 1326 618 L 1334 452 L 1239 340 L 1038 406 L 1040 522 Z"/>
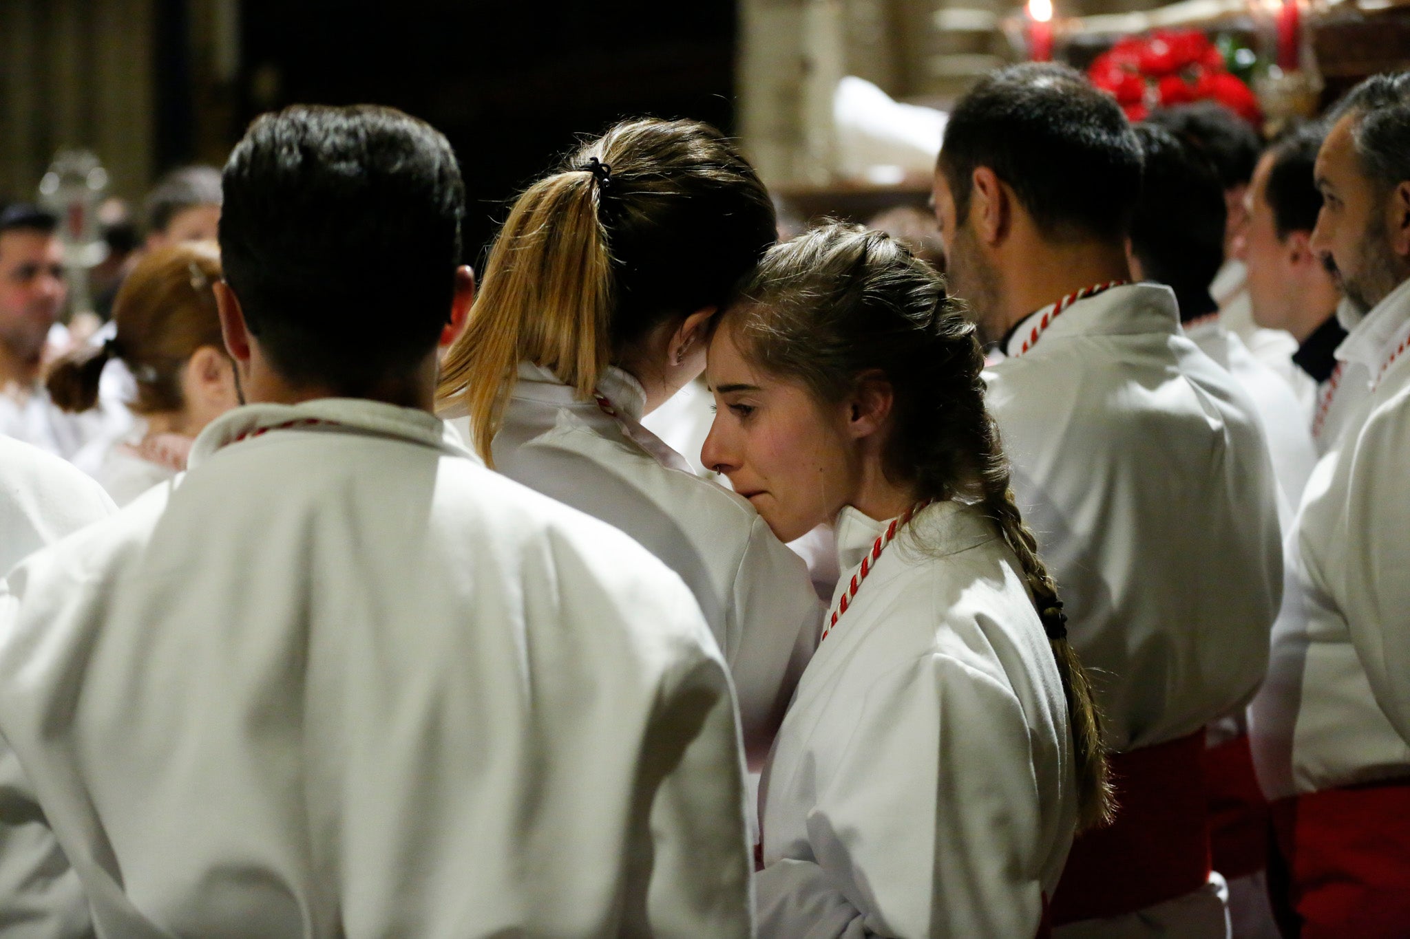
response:
<path fill-rule="evenodd" d="M 1279 522 L 1297 511 L 1303 487 L 1317 465 L 1307 410 L 1287 380 L 1253 358 L 1244 341 L 1217 320 L 1189 324 L 1184 335 L 1239 383 L 1258 414 L 1279 489 Z"/>

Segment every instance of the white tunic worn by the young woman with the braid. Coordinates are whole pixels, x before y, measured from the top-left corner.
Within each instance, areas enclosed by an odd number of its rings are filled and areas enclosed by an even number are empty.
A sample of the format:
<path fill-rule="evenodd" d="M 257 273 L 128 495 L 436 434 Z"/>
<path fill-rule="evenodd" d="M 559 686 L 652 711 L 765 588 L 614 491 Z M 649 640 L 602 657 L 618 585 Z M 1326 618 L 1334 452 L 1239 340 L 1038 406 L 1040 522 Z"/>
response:
<path fill-rule="evenodd" d="M 843 510 L 845 572 L 883 528 Z M 974 508 L 932 504 L 881 555 L 798 683 L 763 802 L 766 939 L 1036 933 L 1076 824 L 1067 705 Z"/>

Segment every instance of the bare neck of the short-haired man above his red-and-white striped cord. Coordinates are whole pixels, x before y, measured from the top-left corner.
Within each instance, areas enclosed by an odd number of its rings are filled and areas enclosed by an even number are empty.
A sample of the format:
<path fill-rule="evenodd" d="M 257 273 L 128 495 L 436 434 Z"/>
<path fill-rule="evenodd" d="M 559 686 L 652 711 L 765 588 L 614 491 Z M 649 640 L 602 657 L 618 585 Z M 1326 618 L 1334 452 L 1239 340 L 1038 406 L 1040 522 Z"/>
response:
<path fill-rule="evenodd" d="M 1048 304 L 1093 284 L 1129 280 L 1125 246 L 1103 242 L 1055 244 L 1034 241 L 1015 249 L 1001 265 L 1004 273 L 1004 332 Z"/>

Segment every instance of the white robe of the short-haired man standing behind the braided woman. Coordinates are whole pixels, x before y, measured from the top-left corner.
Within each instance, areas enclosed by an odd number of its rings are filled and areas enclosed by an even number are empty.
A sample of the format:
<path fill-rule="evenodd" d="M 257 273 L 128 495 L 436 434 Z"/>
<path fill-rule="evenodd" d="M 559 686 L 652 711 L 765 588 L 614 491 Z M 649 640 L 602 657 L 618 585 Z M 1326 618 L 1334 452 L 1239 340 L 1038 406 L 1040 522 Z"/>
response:
<path fill-rule="evenodd" d="M 1079 300 L 1015 355 L 1031 325 L 987 373 L 988 407 L 1107 741 L 1132 750 L 1187 736 L 1252 697 L 1282 594 L 1253 405 L 1180 334 L 1169 287 Z M 1101 921 L 1100 935 L 1211 935 L 1187 924 L 1222 922 L 1217 898 L 1187 900 Z"/>

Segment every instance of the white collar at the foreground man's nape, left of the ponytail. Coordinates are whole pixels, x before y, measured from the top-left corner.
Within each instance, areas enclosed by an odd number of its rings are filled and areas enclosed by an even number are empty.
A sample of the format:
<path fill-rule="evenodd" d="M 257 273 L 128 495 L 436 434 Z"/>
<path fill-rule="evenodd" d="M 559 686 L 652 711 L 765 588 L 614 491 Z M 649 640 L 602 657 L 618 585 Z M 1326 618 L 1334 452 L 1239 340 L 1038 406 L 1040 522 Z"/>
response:
<path fill-rule="evenodd" d="M 300 404 L 247 404 L 226 411 L 196 438 L 186 466 L 195 469 L 224 446 L 285 428 L 391 436 L 475 459 L 448 424 L 420 408 L 367 398 L 314 398 Z"/>

